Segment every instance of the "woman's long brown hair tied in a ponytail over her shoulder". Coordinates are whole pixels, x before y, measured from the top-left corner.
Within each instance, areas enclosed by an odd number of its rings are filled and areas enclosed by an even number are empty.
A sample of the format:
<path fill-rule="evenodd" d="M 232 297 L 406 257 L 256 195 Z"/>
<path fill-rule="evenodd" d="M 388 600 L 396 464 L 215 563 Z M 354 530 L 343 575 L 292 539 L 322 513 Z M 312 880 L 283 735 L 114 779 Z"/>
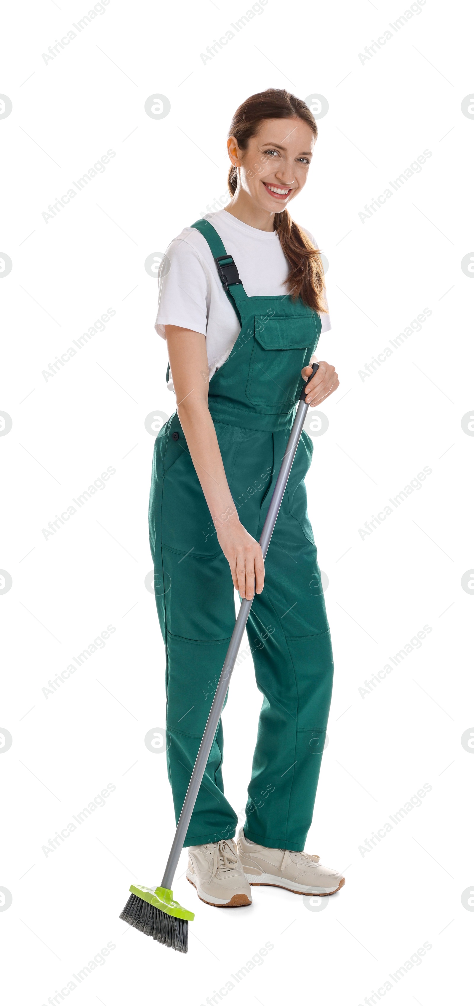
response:
<path fill-rule="evenodd" d="M 248 141 L 258 132 L 264 119 L 301 119 L 311 129 L 314 139 L 317 139 L 317 126 L 307 105 L 300 98 L 295 98 L 288 91 L 268 88 L 257 95 L 252 95 L 237 109 L 230 124 L 229 137 L 235 136 L 241 150 L 246 150 Z M 237 190 L 238 170 L 232 164 L 229 169 L 227 185 L 231 196 Z M 281 247 L 289 263 L 289 275 L 286 281 L 292 300 L 300 297 L 304 304 L 320 313 L 327 312 L 324 300 L 324 271 L 320 253 L 309 240 L 309 237 L 291 219 L 288 210 L 275 213 L 275 230 Z"/>

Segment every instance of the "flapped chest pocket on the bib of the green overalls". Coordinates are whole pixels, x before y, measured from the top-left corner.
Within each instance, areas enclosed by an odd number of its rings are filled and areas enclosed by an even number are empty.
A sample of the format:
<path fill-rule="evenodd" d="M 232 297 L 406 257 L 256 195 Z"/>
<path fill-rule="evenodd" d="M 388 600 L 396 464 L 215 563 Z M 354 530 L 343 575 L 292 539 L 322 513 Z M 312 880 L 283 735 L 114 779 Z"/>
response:
<path fill-rule="evenodd" d="M 319 316 L 256 315 L 245 393 L 259 412 L 289 412 L 302 388 L 301 369 L 317 344 Z"/>

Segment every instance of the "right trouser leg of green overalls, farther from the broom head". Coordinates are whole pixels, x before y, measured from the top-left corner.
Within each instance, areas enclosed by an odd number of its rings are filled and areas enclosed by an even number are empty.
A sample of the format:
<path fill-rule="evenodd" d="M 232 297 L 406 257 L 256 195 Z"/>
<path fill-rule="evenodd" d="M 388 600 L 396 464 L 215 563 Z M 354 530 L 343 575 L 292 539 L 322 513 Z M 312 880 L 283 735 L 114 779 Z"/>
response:
<path fill-rule="evenodd" d="M 286 432 L 274 434 L 275 472 L 257 514 L 263 526 Z M 252 438 L 258 443 L 257 438 Z M 241 454 L 247 463 L 248 448 Z M 263 693 L 244 832 L 273 848 L 302 851 L 311 824 L 329 713 L 333 661 L 304 476 L 312 442 L 303 434 L 265 561 L 247 634 Z M 243 473 L 242 473 L 243 474 Z M 234 484 L 239 477 L 235 466 Z M 235 498 L 235 497 L 234 497 Z M 250 516 L 242 509 L 242 518 Z M 250 533 L 258 537 L 251 523 Z"/>

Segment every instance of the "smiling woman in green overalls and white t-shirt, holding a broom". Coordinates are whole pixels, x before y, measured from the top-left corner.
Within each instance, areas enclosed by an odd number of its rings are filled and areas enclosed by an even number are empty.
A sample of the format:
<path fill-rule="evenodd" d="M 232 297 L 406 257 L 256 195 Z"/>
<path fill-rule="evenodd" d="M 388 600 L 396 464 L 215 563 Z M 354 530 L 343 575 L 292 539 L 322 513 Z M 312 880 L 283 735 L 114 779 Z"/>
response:
<path fill-rule="evenodd" d="M 250 904 L 250 884 L 326 894 L 344 883 L 303 852 L 333 670 L 304 432 L 266 569 L 258 544 L 304 379 L 311 405 L 338 386 L 325 362 L 308 380 L 320 315 L 330 327 L 323 271 L 286 209 L 306 182 L 316 138 L 311 112 L 286 91 L 244 102 L 227 141 L 232 199 L 172 241 L 159 278 L 156 328 L 177 411 L 155 445 L 150 537 L 177 820 L 235 624 L 233 588 L 256 594 L 247 633 L 264 698 L 246 822 L 235 843 L 220 723 L 184 843 L 188 879 L 216 906 Z"/>

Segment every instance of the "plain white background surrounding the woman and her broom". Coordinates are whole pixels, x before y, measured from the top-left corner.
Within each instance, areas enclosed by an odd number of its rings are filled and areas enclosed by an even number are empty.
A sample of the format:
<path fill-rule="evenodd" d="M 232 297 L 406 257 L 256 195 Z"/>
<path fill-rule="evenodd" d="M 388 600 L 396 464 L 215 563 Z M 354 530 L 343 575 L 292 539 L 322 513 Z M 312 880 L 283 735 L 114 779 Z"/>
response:
<path fill-rule="evenodd" d="M 359 53 L 404 12 L 402 3 L 268 0 L 227 47 L 200 53 L 245 4 L 188 6 L 111 0 L 47 63 L 42 53 L 86 14 L 85 3 L 40 0 L 3 13 L 0 120 L 4 321 L 0 438 L 4 473 L 0 596 L 7 647 L 1 725 L 13 742 L 3 777 L 0 911 L 5 1002 L 61 1000 L 55 990 L 107 943 L 104 963 L 71 989 L 75 1006 L 221 1000 L 265 943 L 230 1002 L 309 997 L 357 1006 L 384 988 L 424 943 L 432 949 L 386 994 L 392 1006 L 464 1001 L 474 913 L 470 777 L 461 744 L 474 713 L 468 626 L 474 440 L 472 131 L 461 112 L 472 87 L 467 4 L 428 0 L 364 63 Z M 346 884 L 310 911 L 302 897 L 254 888 L 251 908 L 220 912 L 183 875 L 175 896 L 196 911 L 188 957 L 118 919 L 131 881 L 159 883 L 174 834 L 165 756 L 144 737 L 165 720 L 164 647 L 153 595 L 148 494 L 154 438 L 145 418 L 174 411 L 165 343 L 154 331 L 154 253 L 226 192 L 228 124 L 267 87 L 328 102 L 294 218 L 329 267 L 332 331 L 318 353 L 340 387 L 314 440 L 309 515 L 335 679 L 307 850 Z M 165 95 L 162 120 L 145 102 Z M 48 222 L 48 204 L 101 155 L 103 173 Z M 363 223 L 365 204 L 427 149 L 420 173 Z M 56 356 L 111 308 L 114 316 L 54 377 Z M 429 308 L 432 315 L 365 380 L 359 371 Z M 107 467 L 105 485 L 45 539 L 42 528 Z M 432 474 L 364 539 L 365 522 L 418 472 Z M 471 518 L 469 514 L 471 513 Z M 43 687 L 107 625 L 114 634 L 69 679 Z M 424 625 L 432 632 L 398 669 L 360 693 Z M 224 713 L 226 793 L 246 801 L 260 695 L 250 658 Z M 1 748 L 0 748 L 1 749 Z M 115 790 L 47 856 L 42 846 L 106 784 Z M 380 844 L 382 828 L 424 784 L 432 790 Z M 0 898 L 1 900 L 1 898 Z M 48 998 L 51 997 L 51 998 Z M 223 1001 L 223 1000 L 222 1000 Z M 372 1002 L 376 1003 L 375 997 Z"/>

